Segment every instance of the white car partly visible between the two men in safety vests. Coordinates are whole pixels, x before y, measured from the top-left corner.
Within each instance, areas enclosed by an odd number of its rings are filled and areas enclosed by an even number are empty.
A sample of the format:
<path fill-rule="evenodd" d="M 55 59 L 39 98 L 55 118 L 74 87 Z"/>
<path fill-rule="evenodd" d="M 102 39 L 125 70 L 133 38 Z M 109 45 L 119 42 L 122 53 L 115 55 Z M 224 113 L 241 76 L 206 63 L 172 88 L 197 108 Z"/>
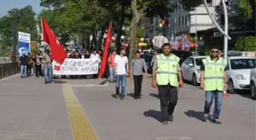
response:
<path fill-rule="evenodd" d="M 181 72 L 184 80 L 193 82 L 194 86 L 200 83 L 200 66 L 206 56 L 191 56 L 181 64 Z"/>

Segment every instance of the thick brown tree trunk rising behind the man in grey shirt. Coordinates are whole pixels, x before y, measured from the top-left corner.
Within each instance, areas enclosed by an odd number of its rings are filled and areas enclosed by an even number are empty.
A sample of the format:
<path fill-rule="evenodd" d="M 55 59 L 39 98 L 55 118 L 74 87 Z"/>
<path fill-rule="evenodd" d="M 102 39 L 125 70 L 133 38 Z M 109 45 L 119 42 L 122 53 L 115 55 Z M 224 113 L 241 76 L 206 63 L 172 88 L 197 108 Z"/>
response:
<path fill-rule="evenodd" d="M 134 58 L 134 54 L 138 45 L 137 39 L 137 29 L 139 20 L 142 17 L 143 9 L 137 10 L 137 2 L 136 0 L 131 0 L 131 8 L 133 11 L 133 19 L 130 23 L 130 54 L 129 54 L 129 64 L 130 61 Z"/>

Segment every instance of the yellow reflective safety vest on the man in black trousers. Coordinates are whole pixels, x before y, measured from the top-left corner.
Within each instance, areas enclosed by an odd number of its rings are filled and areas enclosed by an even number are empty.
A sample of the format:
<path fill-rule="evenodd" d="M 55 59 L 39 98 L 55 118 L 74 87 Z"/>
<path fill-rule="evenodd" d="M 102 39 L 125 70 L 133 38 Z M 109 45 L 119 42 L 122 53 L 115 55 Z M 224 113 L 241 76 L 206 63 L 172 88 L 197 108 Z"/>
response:
<path fill-rule="evenodd" d="M 156 56 L 157 70 L 156 70 L 156 83 L 158 86 L 168 85 L 178 87 L 178 58 L 174 54 L 166 57 L 164 54 Z"/>

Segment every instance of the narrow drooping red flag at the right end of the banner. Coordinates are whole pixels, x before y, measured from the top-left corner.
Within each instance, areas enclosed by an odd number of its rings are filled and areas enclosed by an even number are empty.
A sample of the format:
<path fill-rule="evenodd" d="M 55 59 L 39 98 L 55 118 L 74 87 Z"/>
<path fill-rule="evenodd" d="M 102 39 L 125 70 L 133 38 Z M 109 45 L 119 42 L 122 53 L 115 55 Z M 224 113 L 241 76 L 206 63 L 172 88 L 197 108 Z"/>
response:
<path fill-rule="evenodd" d="M 104 52 L 103 52 L 103 56 L 102 56 L 102 60 L 101 60 L 101 70 L 100 70 L 100 73 L 99 73 L 98 77 L 103 76 L 105 68 L 106 68 L 107 50 L 108 50 L 108 47 L 110 45 L 110 39 L 111 39 L 111 24 L 108 26 L 108 30 L 107 30 L 107 39 L 106 39 L 106 42 L 105 42 Z"/>

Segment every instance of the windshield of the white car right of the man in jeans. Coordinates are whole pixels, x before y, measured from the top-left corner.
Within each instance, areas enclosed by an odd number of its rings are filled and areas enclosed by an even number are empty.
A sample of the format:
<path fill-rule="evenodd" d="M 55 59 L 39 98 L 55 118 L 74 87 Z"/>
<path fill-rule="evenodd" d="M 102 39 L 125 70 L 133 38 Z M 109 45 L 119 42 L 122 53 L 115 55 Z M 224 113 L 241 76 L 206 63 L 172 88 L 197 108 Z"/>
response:
<path fill-rule="evenodd" d="M 232 70 L 253 69 L 256 67 L 256 59 L 233 59 L 230 60 Z"/>

